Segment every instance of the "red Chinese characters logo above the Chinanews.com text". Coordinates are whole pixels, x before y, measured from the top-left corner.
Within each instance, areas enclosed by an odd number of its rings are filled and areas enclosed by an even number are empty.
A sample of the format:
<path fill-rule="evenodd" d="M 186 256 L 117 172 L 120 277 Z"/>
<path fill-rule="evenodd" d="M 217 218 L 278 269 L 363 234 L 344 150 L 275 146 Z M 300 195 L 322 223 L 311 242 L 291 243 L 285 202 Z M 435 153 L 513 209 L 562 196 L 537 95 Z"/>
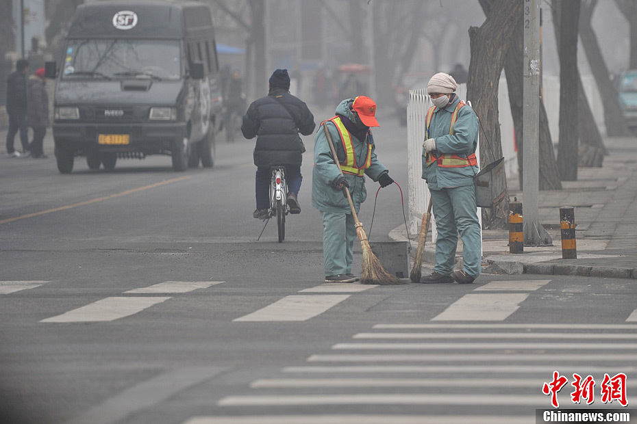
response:
<path fill-rule="evenodd" d="M 558 393 L 568 381 L 564 375 L 560 375 L 558 371 L 553 371 L 553 380 L 542 385 L 542 393 L 551 395 L 551 405 L 553 405 L 554 408 L 560 407 Z M 603 403 L 618 401 L 621 406 L 628 406 L 626 381 L 627 377 L 625 373 L 618 373 L 613 377 L 604 374 L 603 382 L 600 386 L 601 401 Z M 590 405 L 595 402 L 595 379 L 592 375 L 582 378 L 579 374 L 573 373 L 571 386 L 575 388 L 575 390 L 571 392 L 571 401 L 573 401 L 573 403 L 586 401 L 586 404 Z"/>

